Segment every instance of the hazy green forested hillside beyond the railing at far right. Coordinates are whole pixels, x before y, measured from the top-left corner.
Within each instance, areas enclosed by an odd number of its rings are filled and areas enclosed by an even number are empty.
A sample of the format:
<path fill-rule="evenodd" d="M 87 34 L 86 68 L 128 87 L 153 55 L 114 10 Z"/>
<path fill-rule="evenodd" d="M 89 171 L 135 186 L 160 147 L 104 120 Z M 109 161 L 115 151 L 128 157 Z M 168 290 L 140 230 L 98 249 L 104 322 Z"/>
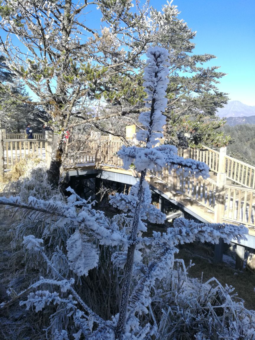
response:
<path fill-rule="evenodd" d="M 227 146 L 227 154 L 243 162 L 255 165 L 255 125 L 240 124 L 235 126 L 224 125 L 221 128 L 232 141 Z"/>

